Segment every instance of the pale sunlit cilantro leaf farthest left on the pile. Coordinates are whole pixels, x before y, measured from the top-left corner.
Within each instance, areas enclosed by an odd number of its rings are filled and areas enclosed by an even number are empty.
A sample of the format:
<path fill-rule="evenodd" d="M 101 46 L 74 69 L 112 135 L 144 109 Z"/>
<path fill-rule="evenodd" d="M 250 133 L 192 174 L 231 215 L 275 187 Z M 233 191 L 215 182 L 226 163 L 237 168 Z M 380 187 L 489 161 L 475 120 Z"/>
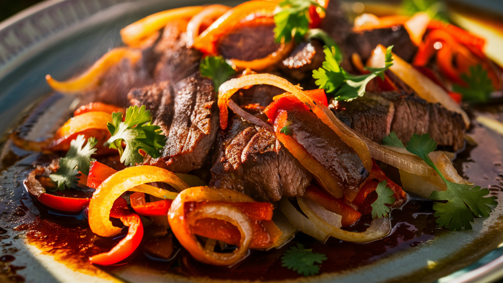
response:
<path fill-rule="evenodd" d="M 90 137 L 87 144 L 84 146 L 86 139 L 84 135 L 78 135 L 77 138 L 70 142 L 70 149 L 65 157 L 59 160 L 59 169 L 56 173 L 50 174 L 49 178 L 57 183 L 60 191 L 67 188 L 74 188 L 77 186 L 79 178 L 77 177 L 78 171 L 82 174 L 89 174 L 89 164 L 95 161 L 91 158 L 96 153 L 94 148 L 98 141 L 95 137 Z"/>

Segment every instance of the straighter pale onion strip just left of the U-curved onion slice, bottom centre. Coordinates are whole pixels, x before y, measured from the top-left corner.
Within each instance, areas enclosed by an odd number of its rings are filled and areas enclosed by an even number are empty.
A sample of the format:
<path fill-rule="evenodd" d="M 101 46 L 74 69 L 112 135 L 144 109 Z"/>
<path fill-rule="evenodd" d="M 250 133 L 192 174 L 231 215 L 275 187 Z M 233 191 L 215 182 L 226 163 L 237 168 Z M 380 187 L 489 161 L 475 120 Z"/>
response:
<path fill-rule="evenodd" d="M 321 231 L 314 223 L 303 216 L 297 209 L 290 203 L 288 198 L 283 197 L 280 202 L 281 212 L 288 218 L 288 221 L 301 232 L 313 237 L 314 239 L 324 243 L 329 235 Z"/>

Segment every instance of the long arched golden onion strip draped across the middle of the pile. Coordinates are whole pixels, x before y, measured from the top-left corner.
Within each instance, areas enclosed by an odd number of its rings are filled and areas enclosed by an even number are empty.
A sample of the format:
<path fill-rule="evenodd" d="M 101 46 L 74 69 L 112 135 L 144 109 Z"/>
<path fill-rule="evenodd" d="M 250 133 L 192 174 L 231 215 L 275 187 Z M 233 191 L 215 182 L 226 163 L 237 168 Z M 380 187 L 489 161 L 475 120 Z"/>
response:
<path fill-rule="evenodd" d="M 218 89 L 218 108 L 220 109 L 220 127 L 225 129 L 228 120 L 228 100 L 239 89 L 254 85 L 271 85 L 283 89 L 297 97 L 302 103 L 306 104 L 323 123 L 328 125 L 342 140 L 352 147 L 358 156 L 362 159 L 363 165 L 370 172 L 372 168 L 372 159 L 369 149 L 363 140 L 341 122 L 328 107 L 321 103 L 315 103 L 312 98 L 302 91 L 299 87 L 292 85 L 286 79 L 270 74 L 252 74 L 242 76 L 237 79 L 229 80 L 223 83 Z"/>

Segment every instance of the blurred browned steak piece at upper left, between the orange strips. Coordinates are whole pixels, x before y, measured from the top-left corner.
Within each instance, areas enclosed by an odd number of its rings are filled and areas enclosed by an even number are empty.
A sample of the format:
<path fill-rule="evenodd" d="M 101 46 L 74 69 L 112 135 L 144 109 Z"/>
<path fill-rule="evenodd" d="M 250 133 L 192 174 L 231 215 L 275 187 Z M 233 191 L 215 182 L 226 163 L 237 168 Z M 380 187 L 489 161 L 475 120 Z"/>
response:
<path fill-rule="evenodd" d="M 199 68 L 202 54 L 187 47 L 186 21 L 175 21 L 164 27 L 159 41 L 152 49 L 153 58 L 158 62 L 153 70 L 156 81 L 177 82 Z"/>

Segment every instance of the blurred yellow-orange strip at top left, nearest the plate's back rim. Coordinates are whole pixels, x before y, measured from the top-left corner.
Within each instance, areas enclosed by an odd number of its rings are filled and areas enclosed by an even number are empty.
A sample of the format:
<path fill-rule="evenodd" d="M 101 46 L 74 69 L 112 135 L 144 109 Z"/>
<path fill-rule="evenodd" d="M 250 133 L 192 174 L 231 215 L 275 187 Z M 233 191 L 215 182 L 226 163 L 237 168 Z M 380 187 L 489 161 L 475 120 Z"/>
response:
<path fill-rule="evenodd" d="M 190 20 L 203 10 L 203 6 L 192 6 L 167 10 L 147 16 L 121 29 L 122 42 L 136 47 L 150 35 L 162 29 L 169 22 L 183 19 Z"/>

